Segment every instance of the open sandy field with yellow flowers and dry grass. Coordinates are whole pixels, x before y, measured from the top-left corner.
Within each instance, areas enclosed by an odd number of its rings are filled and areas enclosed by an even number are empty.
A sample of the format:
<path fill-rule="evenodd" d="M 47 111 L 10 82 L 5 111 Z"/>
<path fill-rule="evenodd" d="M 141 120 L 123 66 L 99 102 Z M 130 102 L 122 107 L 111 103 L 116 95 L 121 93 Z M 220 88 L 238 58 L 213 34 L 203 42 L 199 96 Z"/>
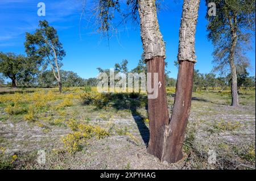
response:
<path fill-rule="evenodd" d="M 0 169 L 255 169 L 255 90 L 240 90 L 237 108 L 228 91 L 193 92 L 184 158 L 175 164 L 146 152 L 146 95 L 95 90 L 0 88 Z M 167 88 L 170 114 L 174 90 Z"/>

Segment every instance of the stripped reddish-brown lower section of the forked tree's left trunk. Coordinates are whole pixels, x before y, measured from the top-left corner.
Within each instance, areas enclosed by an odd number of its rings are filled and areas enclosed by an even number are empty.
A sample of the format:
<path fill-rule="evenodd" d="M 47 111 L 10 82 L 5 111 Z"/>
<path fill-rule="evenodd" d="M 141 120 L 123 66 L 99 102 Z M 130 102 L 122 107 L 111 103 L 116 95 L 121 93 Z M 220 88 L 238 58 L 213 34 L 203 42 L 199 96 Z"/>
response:
<path fill-rule="evenodd" d="M 158 158 L 162 157 L 163 150 L 163 133 L 166 125 L 169 124 L 169 116 L 167 109 L 166 84 L 164 81 L 164 57 L 155 57 L 147 61 L 147 72 L 158 73 L 158 97 L 156 99 L 148 99 L 148 117 L 150 120 L 150 141 L 148 143 L 148 153 Z M 151 85 L 153 85 L 153 76 L 151 77 Z M 160 87 L 160 88 L 159 88 Z"/>

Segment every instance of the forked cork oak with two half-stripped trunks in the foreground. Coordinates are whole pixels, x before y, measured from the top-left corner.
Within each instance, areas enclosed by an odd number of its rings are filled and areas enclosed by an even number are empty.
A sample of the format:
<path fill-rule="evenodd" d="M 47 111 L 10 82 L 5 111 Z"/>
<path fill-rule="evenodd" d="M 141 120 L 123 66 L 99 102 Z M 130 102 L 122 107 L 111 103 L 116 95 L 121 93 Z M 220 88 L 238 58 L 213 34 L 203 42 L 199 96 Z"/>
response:
<path fill-rule="evenodd" d="M 168 163 L 179 161 L 182 158 L 181 149 L 191 108 L 199 2 L 199 0 L 185 0 L 183 3 L 179 33 L 179 73 L 171 120 L 168 119 L 165 86 L 159 88 L 158 98 L 148 99 L 150 142 L 147 150 L 148 153 Z M 165 52 L 156 18 L 155 1 L 139 1 L 139 7 L 141 36 L 148 72 L 158 72 L 159 81 L 162 81 L 164 85 Z M 152 37 L 154 37 L 153 40 Z"/>

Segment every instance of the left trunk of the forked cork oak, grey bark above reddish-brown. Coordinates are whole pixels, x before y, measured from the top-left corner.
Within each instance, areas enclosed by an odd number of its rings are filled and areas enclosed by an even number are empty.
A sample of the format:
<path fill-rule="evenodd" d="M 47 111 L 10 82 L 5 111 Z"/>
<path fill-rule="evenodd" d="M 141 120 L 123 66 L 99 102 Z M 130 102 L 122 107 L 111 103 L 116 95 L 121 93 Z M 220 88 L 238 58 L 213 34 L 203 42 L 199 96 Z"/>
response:
<path fill-rule="evenodd" d="M 144 59 L 148 73 L 158 73 L 159 82 L 162 86 L 158 89 L 156 99 L 148 99 L 148 118 L 150 120 L 150 141 L 148 153 L 160 158 L 163 148 L 163 132 L 169 123 L 166 87 L 164 81 L 164 59 L 166 48 L 162 34 L 159 30 L 156 15 L 155 0 L 139 0 L 139 16 L 141 25 L 141 39 L 144 49 Z M 151 83 L 154 82 L 151 76 Z M 150 82 L 149 81 L 149 82 Z"/>

